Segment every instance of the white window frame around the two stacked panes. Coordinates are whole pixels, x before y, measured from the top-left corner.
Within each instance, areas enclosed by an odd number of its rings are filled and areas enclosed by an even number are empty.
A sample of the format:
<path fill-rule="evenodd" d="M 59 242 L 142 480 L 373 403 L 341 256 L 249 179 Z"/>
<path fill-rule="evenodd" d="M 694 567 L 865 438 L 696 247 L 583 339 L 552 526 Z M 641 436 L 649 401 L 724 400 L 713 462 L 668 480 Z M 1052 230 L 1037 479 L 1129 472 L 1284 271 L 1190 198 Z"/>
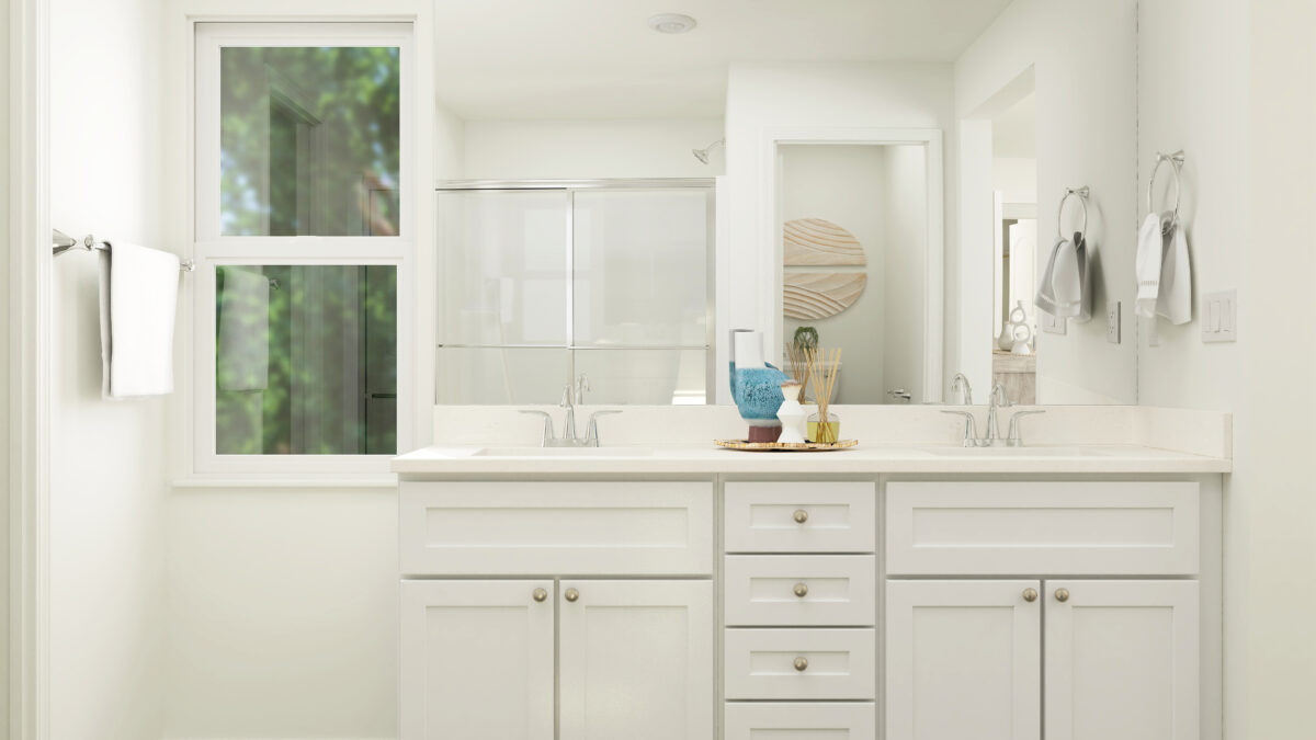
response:
<path fill-rule="evenodd" d="M 224 236 L 220 233 L 220 50 L 232 46 L 392 46 L 399 51 L 397 236 Z M 415 263 L 417 198 L 417 87 L 412 22 L 199 21 L 192 49 L 191 248 L 192 473 L 271 477 L 379 474 L 416 446 Z M 397 270 L 397 450 L 392 454 L 218 454 L 216 452 L 217 267 L 241 265 L 365 266 Z"/>

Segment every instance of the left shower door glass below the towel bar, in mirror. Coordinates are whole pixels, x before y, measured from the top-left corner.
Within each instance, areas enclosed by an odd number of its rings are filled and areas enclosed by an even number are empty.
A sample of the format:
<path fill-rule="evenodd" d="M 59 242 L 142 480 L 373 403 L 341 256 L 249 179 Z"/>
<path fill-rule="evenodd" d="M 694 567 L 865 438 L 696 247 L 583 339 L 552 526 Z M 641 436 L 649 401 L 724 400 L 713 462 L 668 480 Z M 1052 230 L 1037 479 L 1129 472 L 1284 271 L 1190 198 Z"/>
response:
<path fill-rule="evenodd" d="M 571 377 L 567 349 L 441 348 L 434 398 L 447 404 L 557 404 Z"/>

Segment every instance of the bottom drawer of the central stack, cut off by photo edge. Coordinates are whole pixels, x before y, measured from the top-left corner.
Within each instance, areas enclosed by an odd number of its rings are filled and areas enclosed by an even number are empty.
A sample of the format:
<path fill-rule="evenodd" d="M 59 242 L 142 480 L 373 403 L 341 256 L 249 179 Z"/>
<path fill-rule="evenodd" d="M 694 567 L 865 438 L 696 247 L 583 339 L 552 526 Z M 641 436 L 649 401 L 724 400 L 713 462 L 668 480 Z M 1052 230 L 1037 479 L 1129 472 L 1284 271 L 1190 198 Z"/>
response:
<path fill-rule="evenodd" d="M 878 708 L 871 703 L 728 703 L 725 740 L 873 740 Z"/>

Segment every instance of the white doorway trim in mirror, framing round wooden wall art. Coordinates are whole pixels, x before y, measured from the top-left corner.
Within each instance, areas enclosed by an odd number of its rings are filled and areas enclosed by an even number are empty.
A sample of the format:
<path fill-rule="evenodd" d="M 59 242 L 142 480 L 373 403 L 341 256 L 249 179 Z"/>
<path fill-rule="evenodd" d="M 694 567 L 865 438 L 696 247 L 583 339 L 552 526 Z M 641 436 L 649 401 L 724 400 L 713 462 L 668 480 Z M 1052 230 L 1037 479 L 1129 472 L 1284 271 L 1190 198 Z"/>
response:
<path fill-rule="evenodd" d="M 926 253 L 924 259 L 924 305 L 920 317 L 924 337 L 923 388 L 924 398 L 916 402 L 942 400 L 945 363 L 945 159 L 941 129 L 886 129 L 886 128 L 769 128 L 759 133 L 755 149 L 759 153 L 759 195 L 757 245 L 771 245 L 771 259 L 761 259 L 758 284 L 759 309 L 765 313 L 759 327 L 767 334 L 766 346 L 782 346 L 782 220 L 780 161 L 783 145 L 861 145 L 861 146 L 923 146 L 926 165 Z M 766 298 L 766 300 L 762 300 Z"/>

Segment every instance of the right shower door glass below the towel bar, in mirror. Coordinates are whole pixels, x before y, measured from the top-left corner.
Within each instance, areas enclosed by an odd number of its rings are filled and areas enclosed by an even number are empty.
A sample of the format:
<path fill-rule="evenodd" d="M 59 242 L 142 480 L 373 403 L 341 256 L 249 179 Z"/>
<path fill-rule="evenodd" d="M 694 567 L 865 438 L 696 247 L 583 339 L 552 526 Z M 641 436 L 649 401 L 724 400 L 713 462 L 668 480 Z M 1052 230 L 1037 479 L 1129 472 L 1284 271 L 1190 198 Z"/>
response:
<path fill-rule="evenodd" d="M 708 353 L 701 349 L 579 349 L 575 371 L 590 378 L 586 400 L 641 406 L 703 404 Z"/>

